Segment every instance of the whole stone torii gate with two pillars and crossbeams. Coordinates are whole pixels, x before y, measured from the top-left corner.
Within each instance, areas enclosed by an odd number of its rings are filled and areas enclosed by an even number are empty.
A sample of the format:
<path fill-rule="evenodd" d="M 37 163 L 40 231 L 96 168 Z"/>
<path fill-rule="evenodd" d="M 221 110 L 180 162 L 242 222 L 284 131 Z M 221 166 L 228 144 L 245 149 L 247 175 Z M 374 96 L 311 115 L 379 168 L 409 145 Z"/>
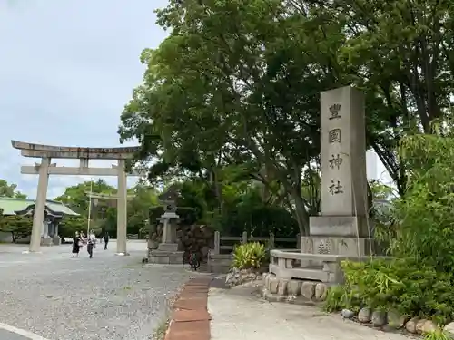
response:
<path fill-rule="evenodd" d="M 126 176 L 141 176 L 138 171 L 128 174 L 125 170 L 126 160 L 132 159 L 138 147 L 122 148 L 76 148 L 52 145 L 32 144 L 23 141 L 11 141 L 13 148 L 21 151 L 24 157 L 41 158 L 41 163 L 35 166 L 21 167 L 22 174 L 38 175 L 38 188 L 35 200 L 30 252 L 38 252 L 41 247 L 41 232 L 44 222 L 45 200 L 49 175 L 79 175 L 79 176 L 116 176 L 117 191 L 117 254 L 127 255 L 126 252 L 126 209 L 127 186 Z M 52 159 L 78 159 L 79 167 L 57 167 L 51 164 Z M 91 168 L 89 160 L 118 160 L 118 165 L 112 168 Z"/>

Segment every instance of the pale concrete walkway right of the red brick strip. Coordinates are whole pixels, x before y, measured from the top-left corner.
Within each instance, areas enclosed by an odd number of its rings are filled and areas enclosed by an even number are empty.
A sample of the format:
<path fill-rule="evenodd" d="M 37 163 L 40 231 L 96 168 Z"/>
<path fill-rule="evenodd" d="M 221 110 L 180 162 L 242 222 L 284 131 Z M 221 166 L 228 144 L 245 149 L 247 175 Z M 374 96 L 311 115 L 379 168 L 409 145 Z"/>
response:
<path fill-rule="evenodd" d="M 254 287 L 211 288 L 211 340 L 409 340 L 327 315 L 319 308 L 269 303 Z"/>

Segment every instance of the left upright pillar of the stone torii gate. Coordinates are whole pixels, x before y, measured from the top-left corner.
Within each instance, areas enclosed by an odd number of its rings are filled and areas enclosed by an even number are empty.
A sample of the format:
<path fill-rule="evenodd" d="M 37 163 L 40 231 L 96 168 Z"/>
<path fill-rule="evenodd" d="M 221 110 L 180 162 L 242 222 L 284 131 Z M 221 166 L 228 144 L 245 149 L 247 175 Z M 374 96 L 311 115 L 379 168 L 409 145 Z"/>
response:
<path fill-rule="evenodd" d="M 50 158 L 42 158 L 39 165 L 38 188 L 36 192 L 35 210 L 33 216 L 32 235 L 30 237 L 30 252 L 39 252 L 41 246 L 41 233 L 43 231 L 45 199 L 47 197 L 47 185 L 49 183 Z"/>

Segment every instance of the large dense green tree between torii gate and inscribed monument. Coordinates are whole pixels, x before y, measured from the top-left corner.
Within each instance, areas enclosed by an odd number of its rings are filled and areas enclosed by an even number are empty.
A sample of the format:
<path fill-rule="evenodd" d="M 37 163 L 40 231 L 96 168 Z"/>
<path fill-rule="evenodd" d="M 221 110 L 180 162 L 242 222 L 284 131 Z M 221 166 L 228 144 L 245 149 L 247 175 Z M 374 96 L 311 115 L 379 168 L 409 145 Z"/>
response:
<path fill-rule="evenodd" d="M 143 51 L 145 83 L 123 112 L 123 140 L 158 160 L 152 179 L 189 170 L 215 181 L 222 165 L 249 164 L 270 190 L 283 188 L 306 233 L 301 180 L 318 161 L 319 92 L 342 83 L 335 55 L 323 53 L 344 43 L 341 26 L 272 0 L 171 1 L 158 16 L 172 32 Z"/>

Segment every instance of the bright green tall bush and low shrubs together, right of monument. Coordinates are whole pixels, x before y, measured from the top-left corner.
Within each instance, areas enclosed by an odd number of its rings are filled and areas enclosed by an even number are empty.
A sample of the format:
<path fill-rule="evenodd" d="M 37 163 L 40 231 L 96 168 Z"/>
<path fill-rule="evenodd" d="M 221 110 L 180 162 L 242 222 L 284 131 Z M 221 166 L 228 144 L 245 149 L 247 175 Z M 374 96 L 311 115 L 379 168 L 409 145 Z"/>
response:
<path fill-rule="evenodd" d="M 439 324 L 452 319 L 453 126 L 441 121 L 432 125 L 432 134 L 417 133 L 400 142 L 400 159 L 409 169 L 408 187 L 392 202 L 391 222 L 376 230 L 393 259 L 342 264 L 346 289 L 360 296 L 362 305 L 424 316 Z"/>

